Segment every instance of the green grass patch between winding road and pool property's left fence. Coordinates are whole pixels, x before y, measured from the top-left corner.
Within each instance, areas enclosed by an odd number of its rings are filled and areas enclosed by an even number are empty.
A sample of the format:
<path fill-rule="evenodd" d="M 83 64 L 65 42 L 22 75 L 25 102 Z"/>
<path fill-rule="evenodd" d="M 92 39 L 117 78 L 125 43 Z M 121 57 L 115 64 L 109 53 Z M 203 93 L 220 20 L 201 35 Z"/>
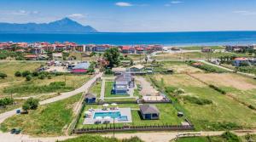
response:
<path fill-rule="evenodd" d="M 11 128 L 21 128 L 22 133 L 33 136 L 55 136 L 63 134 L 62 129 L 73 120 L 73 107 L 81 94 L 63 99 L 49 105 L 40 105 L 38 110 L 26 115 L 15 115 L 1 124 L 6 132 Z"/>

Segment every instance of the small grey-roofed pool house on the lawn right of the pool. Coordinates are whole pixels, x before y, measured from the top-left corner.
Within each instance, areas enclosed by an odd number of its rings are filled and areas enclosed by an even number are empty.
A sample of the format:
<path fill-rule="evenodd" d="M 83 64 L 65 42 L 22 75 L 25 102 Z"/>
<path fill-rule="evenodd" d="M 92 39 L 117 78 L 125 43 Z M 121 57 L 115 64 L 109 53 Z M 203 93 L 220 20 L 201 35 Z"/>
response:
<path fill-rule="evenodd" d="M 160 111 L 155 105 L 140 105 L 140 112 L 145 120 L 157 120 L 160 117 Z"/>

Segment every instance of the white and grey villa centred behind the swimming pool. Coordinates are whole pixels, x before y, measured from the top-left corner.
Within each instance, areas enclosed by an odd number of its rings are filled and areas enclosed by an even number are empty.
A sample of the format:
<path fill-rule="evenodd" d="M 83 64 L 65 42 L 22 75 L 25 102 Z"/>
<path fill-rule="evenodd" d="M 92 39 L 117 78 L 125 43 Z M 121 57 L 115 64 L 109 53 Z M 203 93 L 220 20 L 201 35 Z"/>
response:
<path fill-rule="evenodd" d="M 125 72 L 114 79 L 112 94 L 128 94 L 130 88 L 134 88 L 134 78 L 131 73 Z"/>

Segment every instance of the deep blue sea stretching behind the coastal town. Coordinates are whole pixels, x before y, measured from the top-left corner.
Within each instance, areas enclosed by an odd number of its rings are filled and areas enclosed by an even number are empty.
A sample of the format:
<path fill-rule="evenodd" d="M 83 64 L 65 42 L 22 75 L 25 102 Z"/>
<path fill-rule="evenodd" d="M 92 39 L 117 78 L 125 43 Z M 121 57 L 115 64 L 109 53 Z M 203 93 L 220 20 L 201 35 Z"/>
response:
<path fill-rule="evenodd" d="M 10 33 L 0 32 L 0 42 L 74 42 L 80 44 L 162 44 L 236 45 L 256 43 L 256 31 L 194 31 L 194 32 L 99 32 L 88 34 Z"/>

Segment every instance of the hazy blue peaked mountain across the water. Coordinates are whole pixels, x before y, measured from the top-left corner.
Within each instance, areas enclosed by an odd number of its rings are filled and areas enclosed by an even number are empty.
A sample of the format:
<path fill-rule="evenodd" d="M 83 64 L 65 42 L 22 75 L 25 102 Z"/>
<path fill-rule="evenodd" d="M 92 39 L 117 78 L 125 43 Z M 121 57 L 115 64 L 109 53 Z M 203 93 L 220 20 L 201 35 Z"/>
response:
<path fill-rule="evenodd" d="M 16 23 L 0 23 L 0 31 L 17 31 L 17 32 L 47 32 L 47 33 L 89 33 L 97 32 L 91 26 L 82 26 L 74 20 L 64 18 L 62 20 L 56 20 L 48 24 L 36 24 L 36 23 L 26 23 L 26 24 L 16 24 Z"/>

